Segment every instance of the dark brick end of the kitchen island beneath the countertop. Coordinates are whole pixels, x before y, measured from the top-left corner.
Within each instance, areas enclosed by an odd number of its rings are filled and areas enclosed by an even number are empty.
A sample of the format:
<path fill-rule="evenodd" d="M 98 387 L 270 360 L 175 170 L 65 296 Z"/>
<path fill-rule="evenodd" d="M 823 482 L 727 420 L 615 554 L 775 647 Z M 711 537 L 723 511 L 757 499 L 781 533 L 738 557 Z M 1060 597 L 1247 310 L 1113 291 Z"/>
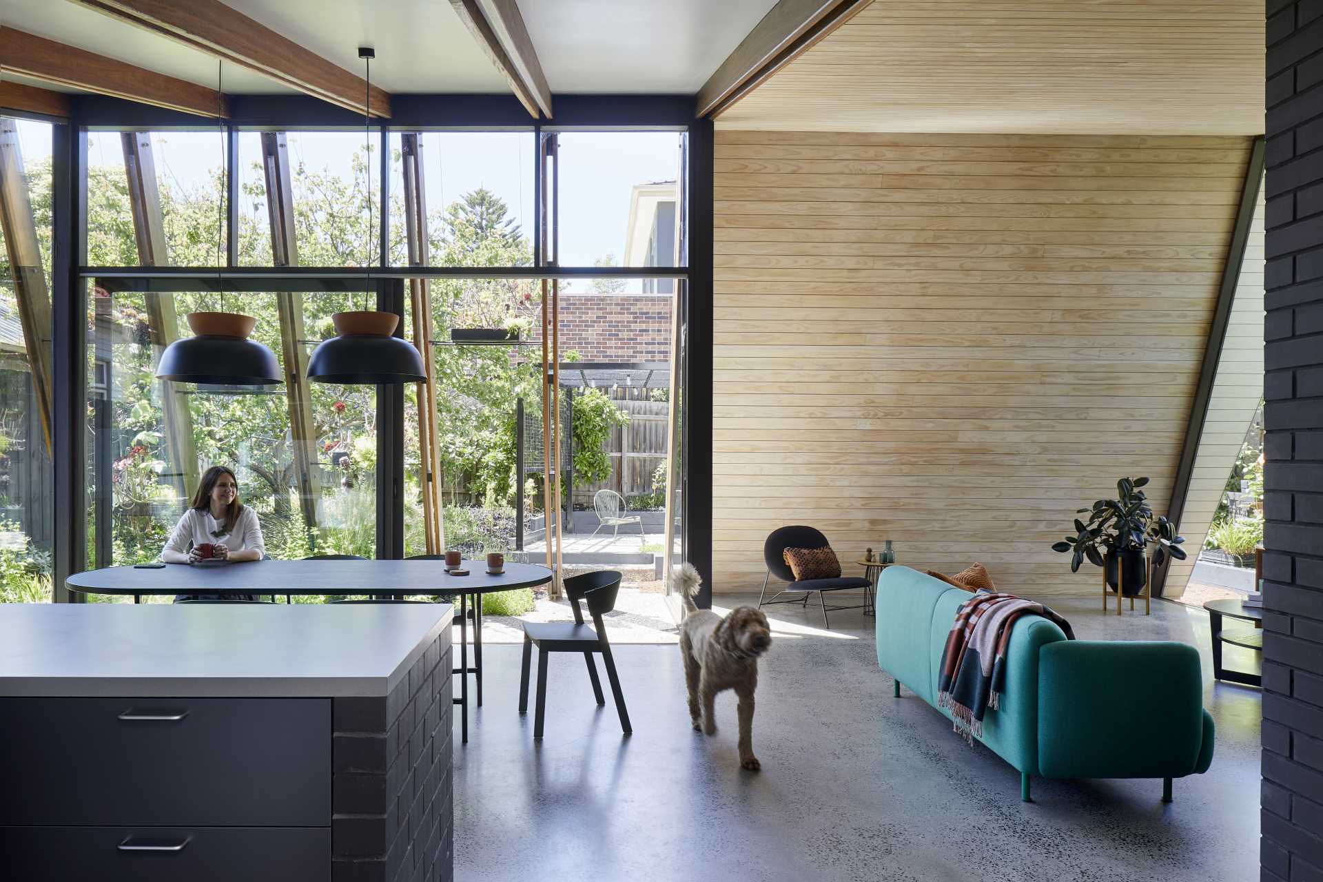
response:
<path fill-rule="evenodd" d="M 450 882 L 450 628 L 386 698 L 331 706 L 332 882 Z"/>

